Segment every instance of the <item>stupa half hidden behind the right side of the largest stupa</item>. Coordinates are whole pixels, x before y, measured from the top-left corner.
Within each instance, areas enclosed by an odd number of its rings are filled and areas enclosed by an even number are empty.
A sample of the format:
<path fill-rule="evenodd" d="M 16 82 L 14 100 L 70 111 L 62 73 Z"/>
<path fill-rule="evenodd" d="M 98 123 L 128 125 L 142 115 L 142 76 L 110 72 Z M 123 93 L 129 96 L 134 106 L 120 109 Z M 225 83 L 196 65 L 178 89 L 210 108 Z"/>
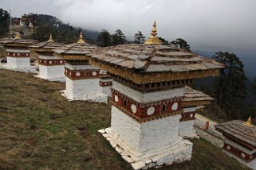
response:
<path fill-rule="evenodd" d="M 184 98 L 182 100 L 183 113 L 179 119 L 179 136 L 181 137 L 198 137 L 193 128 L 195 114 L 203 112 L 205 106 L 214 101 L 209 95 L 201 91 L 196 91 L 191 87 L 185 87 Z"/>

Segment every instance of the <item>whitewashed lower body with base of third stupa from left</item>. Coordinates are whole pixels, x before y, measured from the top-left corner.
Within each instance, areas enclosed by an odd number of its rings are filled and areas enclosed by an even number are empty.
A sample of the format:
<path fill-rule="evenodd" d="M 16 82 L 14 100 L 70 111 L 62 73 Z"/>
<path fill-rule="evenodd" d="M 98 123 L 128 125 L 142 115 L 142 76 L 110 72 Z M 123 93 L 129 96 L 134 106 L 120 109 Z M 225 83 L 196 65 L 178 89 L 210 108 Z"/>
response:
<path fill-rule="evenodd" d="M 66 77 L 66 89 L 62 95 L 69 100 L 108 102 L 108 96 L 101 93 L 99 79 L 69 79 Z"/>

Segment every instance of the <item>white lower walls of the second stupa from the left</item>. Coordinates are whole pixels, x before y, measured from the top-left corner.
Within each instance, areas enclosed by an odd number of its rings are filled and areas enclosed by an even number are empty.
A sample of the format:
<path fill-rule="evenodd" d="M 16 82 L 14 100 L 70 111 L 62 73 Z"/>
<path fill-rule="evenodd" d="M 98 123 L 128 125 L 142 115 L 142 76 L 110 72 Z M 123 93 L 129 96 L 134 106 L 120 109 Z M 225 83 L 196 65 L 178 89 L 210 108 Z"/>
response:
<path fill-rule="evenodd" d="M 65 82 L 64 71 L 64 65 L 45 66 L 39 64 L 39 75 L 37 77 L 49 81 Z"/>

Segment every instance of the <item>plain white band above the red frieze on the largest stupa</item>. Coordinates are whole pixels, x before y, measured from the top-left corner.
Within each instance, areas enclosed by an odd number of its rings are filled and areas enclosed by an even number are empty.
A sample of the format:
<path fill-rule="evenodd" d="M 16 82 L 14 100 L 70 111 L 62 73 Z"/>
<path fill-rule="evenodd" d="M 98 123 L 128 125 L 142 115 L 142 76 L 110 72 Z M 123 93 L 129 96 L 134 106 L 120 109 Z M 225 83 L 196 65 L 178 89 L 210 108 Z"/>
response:
<path fill-rule="evenodd" d="M 133 90 L 123 84 L 113 80 L 112 88 L 120 93 L 127 95 L 129 98 L 134 99 L 136 102 L 157 102 L 165 99 L 172 99 L 175 97 L 183 97 L 184 87 L 175 88 L 167 91 L 154 91 L 149 93 L 141 93 L 140 91 Z"/>

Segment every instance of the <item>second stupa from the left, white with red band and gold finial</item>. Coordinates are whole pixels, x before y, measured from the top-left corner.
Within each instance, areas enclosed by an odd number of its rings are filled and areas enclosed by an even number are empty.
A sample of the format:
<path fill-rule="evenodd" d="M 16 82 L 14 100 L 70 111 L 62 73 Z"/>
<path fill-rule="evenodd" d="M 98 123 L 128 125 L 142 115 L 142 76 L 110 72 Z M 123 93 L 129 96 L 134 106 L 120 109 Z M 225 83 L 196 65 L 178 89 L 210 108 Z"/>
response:
<path fill-rule="evenodd" d="M 60 48 L 62 45 L 54 42 L 52 35 L 50 35 L 48 41 L 30 46 L 31 50 L 37 52 L 39 58 L 39 75 L 35 75 L 36 77 L 49 81 L 65 82 L 64 60 L 59 56 L 53 56 L 53 49 Z"/>

